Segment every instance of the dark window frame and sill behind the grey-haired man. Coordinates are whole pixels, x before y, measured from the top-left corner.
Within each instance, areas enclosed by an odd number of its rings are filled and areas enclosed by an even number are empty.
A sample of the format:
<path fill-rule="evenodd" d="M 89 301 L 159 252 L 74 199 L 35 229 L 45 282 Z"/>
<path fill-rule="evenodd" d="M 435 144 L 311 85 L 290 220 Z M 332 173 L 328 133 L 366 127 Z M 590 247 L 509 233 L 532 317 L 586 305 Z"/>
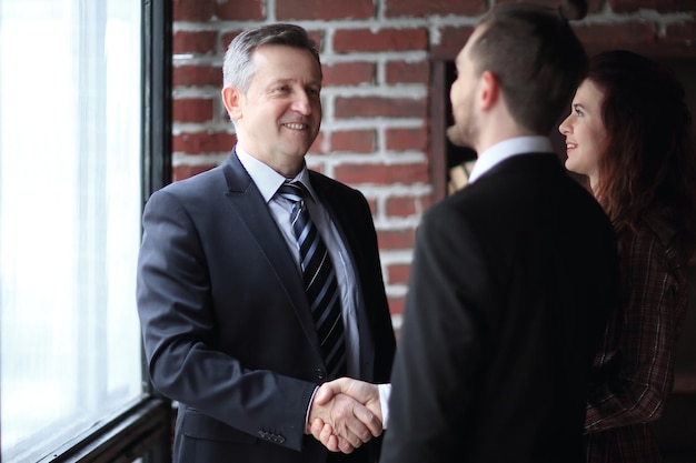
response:
<path fill-rule="evenodd" d="M 146 0 L 141 14 L 143 208 L 152 192 L 171 182 L 171 2 Z M 170 462 L 171 401 L 153 390 L 145 354 L 141 365 L 143 391 L 139 399 L 38 463 L 115 463 L 137 459 L 143 463 Z"/>

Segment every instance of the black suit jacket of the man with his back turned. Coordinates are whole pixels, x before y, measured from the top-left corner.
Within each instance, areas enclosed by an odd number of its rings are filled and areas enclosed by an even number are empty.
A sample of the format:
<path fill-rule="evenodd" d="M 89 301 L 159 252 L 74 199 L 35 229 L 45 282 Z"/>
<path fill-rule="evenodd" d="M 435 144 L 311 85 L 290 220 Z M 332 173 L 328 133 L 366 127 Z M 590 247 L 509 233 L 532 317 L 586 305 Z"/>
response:
<path fill-rule="evenodd" d="M 584 461 L 617 301 L 612 225 L 555 154 L 509 158 L 417 232 L 382 463 Z"/>

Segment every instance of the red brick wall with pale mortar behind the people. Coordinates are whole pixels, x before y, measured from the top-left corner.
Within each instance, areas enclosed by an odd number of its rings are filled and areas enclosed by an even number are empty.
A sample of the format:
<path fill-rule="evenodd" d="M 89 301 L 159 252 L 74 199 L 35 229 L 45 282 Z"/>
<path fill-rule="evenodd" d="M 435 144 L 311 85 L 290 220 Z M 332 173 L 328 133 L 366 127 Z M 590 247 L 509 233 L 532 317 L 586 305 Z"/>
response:
<path fill-rule="evenodd" d="M 557 4 L 557 2 L 549 2 Z M 395 325 L 415 230 L 431 203 L 429 59 L 454 57 L 481 0 L 173 0 L 173 178 L 223 161 L 235 143 L 219 94 L 222 54 L 242 29 L 305 27 L 321 44 L 324 122 L 310 168 L 361 190 L 372 208 Z M 696 60 L 696 0 L 589 0 L 588 50 Z"/>

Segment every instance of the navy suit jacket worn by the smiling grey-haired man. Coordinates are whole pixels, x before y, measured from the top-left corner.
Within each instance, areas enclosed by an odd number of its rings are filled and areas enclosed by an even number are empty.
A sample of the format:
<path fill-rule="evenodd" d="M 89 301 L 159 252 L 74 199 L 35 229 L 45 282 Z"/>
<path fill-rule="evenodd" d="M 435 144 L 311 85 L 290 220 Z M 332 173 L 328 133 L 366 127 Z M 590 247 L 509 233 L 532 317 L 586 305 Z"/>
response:
<path fill-rule="evenodd" d="M 386 382 L 395 336 L 369 207 L 357 190 L 310 179 L 361 290 L 360 378 Z M 143 228 L 138 313 L 152 384 L 180 403 L 175 461 L 324 462 L 304 434 L 326 373 L 301 276 L 237 155 L 152 194 Z"/>

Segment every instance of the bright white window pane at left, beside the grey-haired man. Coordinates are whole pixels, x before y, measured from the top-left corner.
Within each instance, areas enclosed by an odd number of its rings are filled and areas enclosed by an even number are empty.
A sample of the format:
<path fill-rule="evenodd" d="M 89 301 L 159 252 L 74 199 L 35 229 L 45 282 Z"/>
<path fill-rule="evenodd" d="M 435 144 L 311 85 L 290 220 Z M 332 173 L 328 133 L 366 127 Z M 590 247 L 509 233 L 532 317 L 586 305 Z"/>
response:
<path fill-rule="evenodd" d="M 142 394 L 140 0 L 0 0 L 2 462 Z"/>

